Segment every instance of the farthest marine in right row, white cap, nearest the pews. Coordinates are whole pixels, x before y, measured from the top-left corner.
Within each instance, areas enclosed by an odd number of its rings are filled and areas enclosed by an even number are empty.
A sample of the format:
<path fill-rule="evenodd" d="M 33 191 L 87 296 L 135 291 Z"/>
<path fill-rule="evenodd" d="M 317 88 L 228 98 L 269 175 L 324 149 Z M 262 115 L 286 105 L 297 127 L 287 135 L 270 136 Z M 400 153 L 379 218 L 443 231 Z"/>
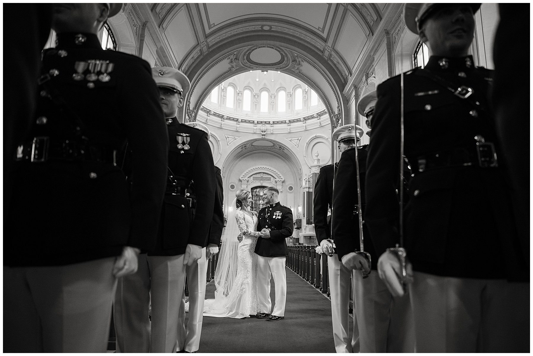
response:
<path fill-rule="evenodd" d="M 358 127 L 358 129 L 360 129 Z M 340 152 L 355 144 L 354 125 L 344 125 L 335 129 L 333 136 L 339 143 Z M 360 129 L 362 131 L 362 129 Z M 342 145 L 341 145 L 342 142 Z M 351 270 L 345 268 L 333 249 L 335 236 L 332 236 L 332 216 L 328 210 L 333 206 L 334 178 L 338 163 L 320 168 L 313 189 L 313 222 L 317 241 L 322 251 L 328 255 L 328 279 L 332 300 L 333 341 L 338 353 L 359 352 L 359 328 L 357 318 L 353 318 L 353 334 L 350 338 L 350 277 Z"/>

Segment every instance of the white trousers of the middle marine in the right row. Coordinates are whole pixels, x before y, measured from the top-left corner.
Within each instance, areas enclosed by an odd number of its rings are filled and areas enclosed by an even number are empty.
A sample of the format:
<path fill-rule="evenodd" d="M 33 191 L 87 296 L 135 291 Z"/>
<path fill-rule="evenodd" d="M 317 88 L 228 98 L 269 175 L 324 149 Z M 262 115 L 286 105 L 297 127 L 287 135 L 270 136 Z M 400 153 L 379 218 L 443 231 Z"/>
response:
<path fill-rule="evenodd" d="M 352 271 L 352 280 L 360 352 L 414 352 L 409 295 L 393 297 L 376 270 L 365 279 Z"/>

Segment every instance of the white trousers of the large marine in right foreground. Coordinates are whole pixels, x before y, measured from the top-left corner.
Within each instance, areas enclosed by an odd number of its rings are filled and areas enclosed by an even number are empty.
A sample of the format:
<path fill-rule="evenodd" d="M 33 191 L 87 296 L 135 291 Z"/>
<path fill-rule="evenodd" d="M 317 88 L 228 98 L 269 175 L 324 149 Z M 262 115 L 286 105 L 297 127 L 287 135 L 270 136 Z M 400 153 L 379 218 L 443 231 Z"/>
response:
<path fill-rule="evenodd" d="M 417 352 L 529 352 L 529 283 L 414 272 Z"/>

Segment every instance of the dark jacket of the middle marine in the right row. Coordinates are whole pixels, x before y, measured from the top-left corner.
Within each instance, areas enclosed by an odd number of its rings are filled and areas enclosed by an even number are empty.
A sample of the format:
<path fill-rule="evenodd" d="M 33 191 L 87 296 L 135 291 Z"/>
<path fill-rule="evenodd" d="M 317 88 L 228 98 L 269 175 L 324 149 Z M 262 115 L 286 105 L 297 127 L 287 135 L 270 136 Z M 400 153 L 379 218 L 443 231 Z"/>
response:
<path fill-rule="evenodd" d="M 368 145 L 358 148 L 359 177 L 361 186 L 361 206 L 365 211 L 365 174 Z M 338 161 L 335 176 L 335 191 L 333 193 L 333 234 L 335 236 L 335 251 L 339 261 L 342 256 L 360 250 L 359 217 L 357 207 L 357 168 L 356 148 L 348 148 Z M 372 269 L 377 268 L 376 250 L 370 239 L 370 234 L 363 223 L 363 242 L 365 251 L 370 253 Z"/>

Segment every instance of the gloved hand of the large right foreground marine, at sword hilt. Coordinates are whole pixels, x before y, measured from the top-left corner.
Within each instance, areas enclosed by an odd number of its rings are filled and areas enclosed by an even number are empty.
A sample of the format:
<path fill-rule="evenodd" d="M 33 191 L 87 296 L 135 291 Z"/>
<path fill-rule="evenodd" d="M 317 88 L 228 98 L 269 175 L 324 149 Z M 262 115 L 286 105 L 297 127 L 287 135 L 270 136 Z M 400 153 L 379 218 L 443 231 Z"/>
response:
<path fill-rule="evenodd" d="M 413 265 L 406 264 L 407 277 L 405 283 L 413 283 Z M 391 251 L 385 251 L 377 260 L 377 273 L 393 296 L 403 296 L 405 290 L 401 283 L 401 264 L 398 256 Z"/>

